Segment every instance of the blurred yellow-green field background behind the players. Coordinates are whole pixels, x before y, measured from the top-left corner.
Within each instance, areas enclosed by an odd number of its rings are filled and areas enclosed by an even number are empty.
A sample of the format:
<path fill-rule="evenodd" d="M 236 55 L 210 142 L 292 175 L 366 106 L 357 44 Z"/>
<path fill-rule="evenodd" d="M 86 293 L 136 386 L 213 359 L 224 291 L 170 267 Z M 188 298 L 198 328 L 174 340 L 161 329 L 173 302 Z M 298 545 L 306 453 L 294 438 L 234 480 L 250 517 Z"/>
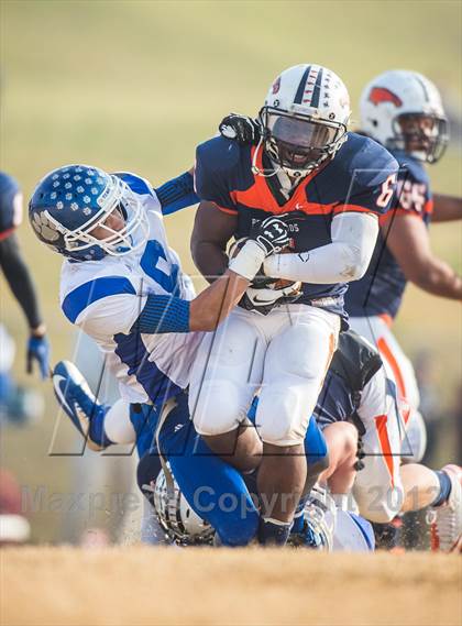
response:
<path fill-rule="evenodd" d="M 2 0 L 0 166 L 21 182 L 25 198 L 42 175 L 65 163 L 132 171 L 156 185 L 190 167 L 195 146 L 216 132 L 223 114 L 255 114 L 285 67 L 331 67 L 350 89 L 354 119 L 362 87 L 382 70 L 406 67 L 427 74 L 443 92 L 454 141 L 431 175 L 435 189 L 461 195 L 461 19 L 462 4 L 443 0 Z M 166 220 L 170 244 L 191 274 L 193 219 L 189 209 Z M 459 272 L 461 234 L 460 223 L 431 230 L 436 253 Z M 20 239 L 38 286 L 53 360 L 72 358 L 74 334 L 58 307 L 61 261 L 37 243 L 26 222 Z M 16 376 L 46 399 L 40 424 L 2 432 L 2 464 L 23 485 L 66 492 L 70 466 L 85 461 L 47 455 L 56 406 L 50 384 L 24 374 L 25 323 L 2 278 L 0 288 L 1 320 L 18 345 Z M 409 288 L 397 334 L 409 354 L 424 354 L 437 389 L 442 436 L 435 460 L 453 458 L 461 307 Z M 62 509 L 37 512 L 34 539 L 66 538 L 65 520 Z"/>

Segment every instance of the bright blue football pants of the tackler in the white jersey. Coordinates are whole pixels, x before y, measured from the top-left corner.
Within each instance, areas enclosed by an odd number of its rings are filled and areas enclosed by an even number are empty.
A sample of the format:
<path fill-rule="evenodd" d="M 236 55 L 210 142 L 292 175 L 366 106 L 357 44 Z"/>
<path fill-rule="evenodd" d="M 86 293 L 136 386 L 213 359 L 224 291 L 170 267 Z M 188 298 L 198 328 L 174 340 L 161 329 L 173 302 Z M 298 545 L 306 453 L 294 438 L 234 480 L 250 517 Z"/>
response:
<path fill-rule="evenodd" d="M 252 419 L 256 402 L 249 411 Z M 138 405 L 140 406 L 140 405 Z M 138 471 L 139 485 L 155 481 L 161 471 L 157 446 L 151 449 L 146 442 L 153 439 L 156 409 L 141 405 L 131 415 L 138 432 L 138 448 L 142 457 Z M 188 396 L 180 393 L 176 406 L 168 414 L 158 437 L 162 453 L 168 460 L 175 480 L 191 508 L 218 532 L 224 546 L 245 546 L 255 536 L 258 512 L 242 474 L 217 457 L 196 432 L 189 419 Z M 310 420 L 305 439 L 308 471 L 326 466 L 326 440 L 315 419 Z M 319 474 L 316 471 L 316 476 Z"/>

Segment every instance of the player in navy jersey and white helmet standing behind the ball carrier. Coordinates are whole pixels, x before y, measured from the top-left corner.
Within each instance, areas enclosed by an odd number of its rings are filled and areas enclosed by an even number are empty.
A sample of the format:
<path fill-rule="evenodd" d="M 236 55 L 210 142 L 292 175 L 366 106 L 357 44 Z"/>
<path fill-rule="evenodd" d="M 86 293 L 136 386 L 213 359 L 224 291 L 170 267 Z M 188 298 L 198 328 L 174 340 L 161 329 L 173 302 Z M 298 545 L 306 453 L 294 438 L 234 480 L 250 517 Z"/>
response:
<path fill-rule="evenodd" d="M 393 209 L 380 218 L 381 233 L 372 262 L 364 277 L 350 284 L 345 308 L 351 326 L 377 345 L 387 375 L 411 406 L 407 413 L 410 449 L 404 458 L 419 461 L 425 452 L 426 432 L 418 411 L 416 377 L 391 325 L 399 310 L 407 281 L 431 294 L 462 299 L 461 277 L 433 255 L 428 235 L 430 219 L 441 222 L 462 218 L 462 199 L 433 196 L 430 189 L 426 164 L 442 156 L 448 143 L 448 123 L 440 95 L 426 77 L 415 72 L 391 70 L 374 78 L 361 98 L 361 130 L 385 145 L 400 167 Z M 242 144 L 256 144 L 261 125 L 257 120 L 232 113 L 221 122 L 220 132 Z M 419 468 L 409 466 L 416 488 L 433 488 L 429 474 Z M 460 481 L 461 473 L 454 472 L 454 465 L 446 466 L 444 472 L 452 483 Z M 435 514 L 432 531 L 438 545 L 439 535 L 454 535 L 455 512 L 443 506 L 435 509 Z"/>

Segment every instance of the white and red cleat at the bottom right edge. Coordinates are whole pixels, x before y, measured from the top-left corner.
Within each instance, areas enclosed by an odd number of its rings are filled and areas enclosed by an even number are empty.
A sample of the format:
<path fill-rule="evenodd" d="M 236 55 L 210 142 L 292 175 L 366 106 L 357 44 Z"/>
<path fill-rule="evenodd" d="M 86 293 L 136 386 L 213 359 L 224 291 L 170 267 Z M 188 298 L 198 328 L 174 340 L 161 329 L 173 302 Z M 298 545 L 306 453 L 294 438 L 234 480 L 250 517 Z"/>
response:
<path fill-rule="evenodd" d="M 431 549 L 441 552 L 462 551 L 462 469 L 444 465 L 442 471 L 451 480 L 448 502 L 431 509 Z"/>

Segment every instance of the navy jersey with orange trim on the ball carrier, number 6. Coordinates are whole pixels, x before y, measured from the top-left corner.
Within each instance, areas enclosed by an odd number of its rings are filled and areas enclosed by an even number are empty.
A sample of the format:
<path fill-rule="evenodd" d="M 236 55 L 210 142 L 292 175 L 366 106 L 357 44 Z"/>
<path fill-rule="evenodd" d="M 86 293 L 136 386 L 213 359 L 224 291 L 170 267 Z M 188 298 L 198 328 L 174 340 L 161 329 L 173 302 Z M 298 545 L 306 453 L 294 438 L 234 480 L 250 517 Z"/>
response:
<path fill-rule="evenodd" d="M 331 243 L 331 222 L 342 211 L 383 216 L 388 210 L 398 165 L 375 141 L 349 133 L 332 161 L 306 176 L 287 199 L 276 176 L 265 178 L 252 171 L 255 146 L 241 146 L 222 136 L 202 143 L 196 154 L 196 191 L 226 213 L 238 216 L 235 238 L 250 234 L 268 213 L 294 213 L 292 248 L 305 252 Z M 258 151 L 256 165 L 271 167 Z M 346 285 L 304 285 L 300 304 L 323 306 L 343 315 Z"/>

